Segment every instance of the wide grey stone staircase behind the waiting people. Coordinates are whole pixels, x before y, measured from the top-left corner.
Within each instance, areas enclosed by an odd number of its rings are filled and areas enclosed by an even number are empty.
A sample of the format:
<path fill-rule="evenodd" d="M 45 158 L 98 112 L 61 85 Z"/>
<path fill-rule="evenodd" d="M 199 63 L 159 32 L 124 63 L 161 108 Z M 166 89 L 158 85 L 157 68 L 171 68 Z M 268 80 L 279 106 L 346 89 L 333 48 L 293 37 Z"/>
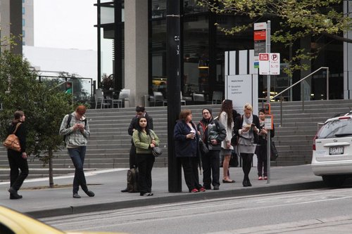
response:
<path fill-rule="evenodd" d="M 204 107 L 213 109 L 213 117 L 220 111 L 220 105 L 187 105 L 192 111 L 195 123 L 201 119 Z M 280 123 L 280 103 L 272 103 L 271 110 L 275 122 L 275 141 L 279 157 L 272 166 L 291 166 L 310 164 L 312 143 L 318 123 L 340 112 L 348 112 L 352 108 L 352 100 L 315 100 L 306 101 L 304 112 L 301 102 L 282 103 L 282 124 Z M 90 109 L 87 110 L 91 138 L 87 146 L 84 168 L 111 169 L 128 168 L 131 136 L 127 129 L 135 108 Z M 168 166 L 168 129 L 167 108 L 148 107 L 146 111 L 153 117 L 153 126 L 161 139 L 163 155 L 156 158 L 154 167 Z M 280 126 L 281 125 L 281 126 Z M 54 174 L 62 175 L 74 172 L 73 164 L 66 150 L 56 152 L 54 158 Z M 42 162 L 31 159 L 29 162 L 30 177 L 46 177 L 48 167 Z M 0 181 L 8 180 L 8 160 L 6 150 L 0 146 Z"/>

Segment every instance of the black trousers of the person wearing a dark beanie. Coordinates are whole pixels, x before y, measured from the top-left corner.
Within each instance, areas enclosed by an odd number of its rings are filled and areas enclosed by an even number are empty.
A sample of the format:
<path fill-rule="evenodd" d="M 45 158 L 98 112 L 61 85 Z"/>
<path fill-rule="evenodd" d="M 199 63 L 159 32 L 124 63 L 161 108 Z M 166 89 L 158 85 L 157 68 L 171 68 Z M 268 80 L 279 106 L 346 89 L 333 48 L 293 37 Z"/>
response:
<path fill-rule="evenodd" d="M 220 150 L 209 150 L 206 155 L 201 156 L 201 162 L 203 166 L 203 186 L 210 188 L 210 183 L 213 186 L 220 186 Z"/>

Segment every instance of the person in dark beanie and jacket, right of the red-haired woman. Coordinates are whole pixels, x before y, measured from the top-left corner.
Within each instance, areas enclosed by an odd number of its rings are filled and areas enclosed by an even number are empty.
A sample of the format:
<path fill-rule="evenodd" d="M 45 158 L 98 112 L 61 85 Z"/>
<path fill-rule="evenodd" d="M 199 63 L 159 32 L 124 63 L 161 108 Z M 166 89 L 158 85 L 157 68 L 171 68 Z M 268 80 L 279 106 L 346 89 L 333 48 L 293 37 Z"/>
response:
<path fill-rule="evenodd" d="M 214 190 L 219 190 L 220 186 L 220 149 L 221 142 L 226 138 L 226 129 L 218 120 L 211 116 L 211 109 L 202 110 L 203 119 L 197 125 L 197 129 L 209 152 L 201 156 L 203 166 L 203 186 Z M 213 175 L 213 180 L 211 176 Z"/>

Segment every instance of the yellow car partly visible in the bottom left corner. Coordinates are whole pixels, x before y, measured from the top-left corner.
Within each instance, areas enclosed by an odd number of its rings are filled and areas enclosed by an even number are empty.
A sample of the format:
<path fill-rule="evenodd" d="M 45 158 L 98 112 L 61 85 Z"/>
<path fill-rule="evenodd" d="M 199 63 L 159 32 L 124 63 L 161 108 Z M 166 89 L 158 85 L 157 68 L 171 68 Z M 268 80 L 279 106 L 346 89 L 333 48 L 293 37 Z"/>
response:
<path fill-rule="evenodd" d="M 63 232 L 30 216 L 15 212 L 13 209 L 0 206 L 1 234 L 104 234 L 104 232 Z M 108 234 L 108 233 L 106 233 Z M 112 233 L 110 233 L 112 234 Z"/>

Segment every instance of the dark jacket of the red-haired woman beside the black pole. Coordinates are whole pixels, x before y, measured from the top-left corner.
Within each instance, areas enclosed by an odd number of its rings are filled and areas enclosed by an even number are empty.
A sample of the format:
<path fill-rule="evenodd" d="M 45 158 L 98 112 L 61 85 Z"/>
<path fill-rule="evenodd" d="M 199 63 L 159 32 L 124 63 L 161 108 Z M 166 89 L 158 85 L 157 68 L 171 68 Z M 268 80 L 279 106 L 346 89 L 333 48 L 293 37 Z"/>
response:
<path fill-rule="evenodd" d="M 196 125 L 192 122 L 194 129 Z M 194 139 L 188 138 L 187 134 L 191 132 L 191 128 L 183 120 L 179 120 L 175 125 L 174 129 L 174 140 L 175 140 L 175 155 L 176 157 L 196 157 L 198 150 L 198 139 L 199 135 L 196 131 Z"/>

